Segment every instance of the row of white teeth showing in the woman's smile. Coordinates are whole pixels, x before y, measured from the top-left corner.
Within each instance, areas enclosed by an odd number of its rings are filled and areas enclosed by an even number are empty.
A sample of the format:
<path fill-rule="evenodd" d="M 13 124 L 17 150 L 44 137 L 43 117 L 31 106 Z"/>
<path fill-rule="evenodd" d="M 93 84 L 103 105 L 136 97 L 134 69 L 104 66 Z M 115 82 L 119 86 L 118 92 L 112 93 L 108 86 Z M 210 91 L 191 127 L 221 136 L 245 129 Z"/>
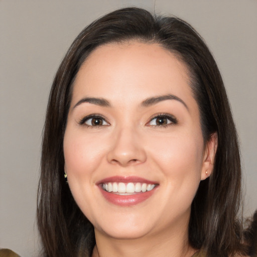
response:
<path fill-rule="evenodd" d="M 147 183 L 122 183 L 122 182 L 114 182 L 114 183 L 105 183 L 102 184 L 102 189 L 107 192 L 113 193 L 139 193 L 151 191 L 155 188 L 155 184 L 147 184 Z"/>

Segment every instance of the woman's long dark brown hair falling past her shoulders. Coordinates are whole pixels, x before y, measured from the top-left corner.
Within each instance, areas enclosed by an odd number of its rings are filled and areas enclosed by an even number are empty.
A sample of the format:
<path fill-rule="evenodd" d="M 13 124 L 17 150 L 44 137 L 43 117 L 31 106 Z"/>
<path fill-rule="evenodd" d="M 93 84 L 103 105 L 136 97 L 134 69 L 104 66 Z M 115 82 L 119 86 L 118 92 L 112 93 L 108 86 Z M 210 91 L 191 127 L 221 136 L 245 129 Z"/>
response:
<path fill-rule="evenodd" d="M 203 39 L 185 21 L 126 8 L 96 20 L 78 35 L 53 81 L 44 126 L 38 190 L 37 215 L 43 255 L 90 256 L 92 252 L 93 226 L 76 205 L 63 177 L 63 137 L 72 84 L 80 66 L 96 47 L 130 40 L 158 43 L 186 64 L 200 110 L 204 141 L 214 132 L 218 135 L 212 175 L 200 183 L 192 203 L 190 244 L 204 249 L 209 257 L 242 252 L 242 228 L 238 219 L 241 201 L 238 140 L 215 60 Z"/>

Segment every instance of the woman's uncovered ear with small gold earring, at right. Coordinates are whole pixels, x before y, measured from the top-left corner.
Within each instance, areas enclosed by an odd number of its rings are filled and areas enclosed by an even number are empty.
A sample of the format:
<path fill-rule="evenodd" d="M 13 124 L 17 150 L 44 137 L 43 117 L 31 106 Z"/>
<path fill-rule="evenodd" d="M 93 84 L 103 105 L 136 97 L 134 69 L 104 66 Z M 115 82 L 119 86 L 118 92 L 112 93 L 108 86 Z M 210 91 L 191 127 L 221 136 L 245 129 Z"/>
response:
<path fill-rule="evenodd" d="M 206 142 L 204 156 L 203 156 L 201 180 L 205 180 L 212 173 L 217 146 L 218 146 L 218 135 L 215 132 L 211 135 L 208 142 Z"/>

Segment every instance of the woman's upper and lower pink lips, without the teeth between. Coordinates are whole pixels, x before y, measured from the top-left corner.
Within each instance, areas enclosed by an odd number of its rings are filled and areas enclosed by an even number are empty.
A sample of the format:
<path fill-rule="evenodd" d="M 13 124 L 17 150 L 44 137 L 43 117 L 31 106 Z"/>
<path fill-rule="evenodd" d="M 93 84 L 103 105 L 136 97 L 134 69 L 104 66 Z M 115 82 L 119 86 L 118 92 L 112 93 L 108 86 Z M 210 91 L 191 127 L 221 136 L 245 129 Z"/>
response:
<path fill-rule="evenodd" d="M 136 204 L 139 204 L 139 203 L 147 200 L 149 197 L 151 197 L 155 193 L 156 189 L 158 188 L 158 186 L 156 186 L 151 191 L 135 193 L 132 195 L 118 195 L 118 194 L 106 192 L 105 190 L 102 189 L 101 184 L 108 183 L 108 182 L 123 182 L 123 183 L 139 182 L 139 183 L 147 183 L 147 184 L 158 184 L 158 183 L 155 181 L 150 181 L 150 180 L 146 180 L 146 179 L 143 179 L 140 177 L 135 177 L 135 176 L 131 176 L 131 177 L 114 176 L 114 177 L 109 177 L 109 178 L 105 178 L 103 180 L 98 181 L 97 185 L 98 185 L 98 188 L 99 188 L 100 192 L 102 193 L 103 197 L 108 202 L 115 204 L 115 205 L 123 206 L 123 207 L 136 205 Z"/>

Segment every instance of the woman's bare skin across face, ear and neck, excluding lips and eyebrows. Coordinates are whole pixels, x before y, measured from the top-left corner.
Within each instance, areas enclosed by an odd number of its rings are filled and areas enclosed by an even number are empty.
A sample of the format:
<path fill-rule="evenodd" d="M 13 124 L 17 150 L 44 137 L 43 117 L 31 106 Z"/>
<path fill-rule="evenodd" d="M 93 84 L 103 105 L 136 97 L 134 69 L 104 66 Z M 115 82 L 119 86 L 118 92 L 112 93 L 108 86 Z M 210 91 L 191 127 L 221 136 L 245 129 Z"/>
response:
<path fill-rule="evenodd" d="M 150 97 L 172 94 L 149 106 Z M 106 99 L 111 106 L 80 102 Z M 167 125 L 155 117 L 175 117 Z M 104 117 L 92 126 L 91 114 Z M 85 119 L 84 119 L 85 120 Z M 95 228 L 93 256 L 191 256 L 191 203 L 200 180 L 211 174 L 216 136 L 204 144 L 188 71 L 158 44 L 136 41 L 94 50 L 74 82 L 64 136 L 65 171 L 78 206 Z M 118 206 L 97 182 L 112 176 L 157 181 L 147 200 Z"/>

